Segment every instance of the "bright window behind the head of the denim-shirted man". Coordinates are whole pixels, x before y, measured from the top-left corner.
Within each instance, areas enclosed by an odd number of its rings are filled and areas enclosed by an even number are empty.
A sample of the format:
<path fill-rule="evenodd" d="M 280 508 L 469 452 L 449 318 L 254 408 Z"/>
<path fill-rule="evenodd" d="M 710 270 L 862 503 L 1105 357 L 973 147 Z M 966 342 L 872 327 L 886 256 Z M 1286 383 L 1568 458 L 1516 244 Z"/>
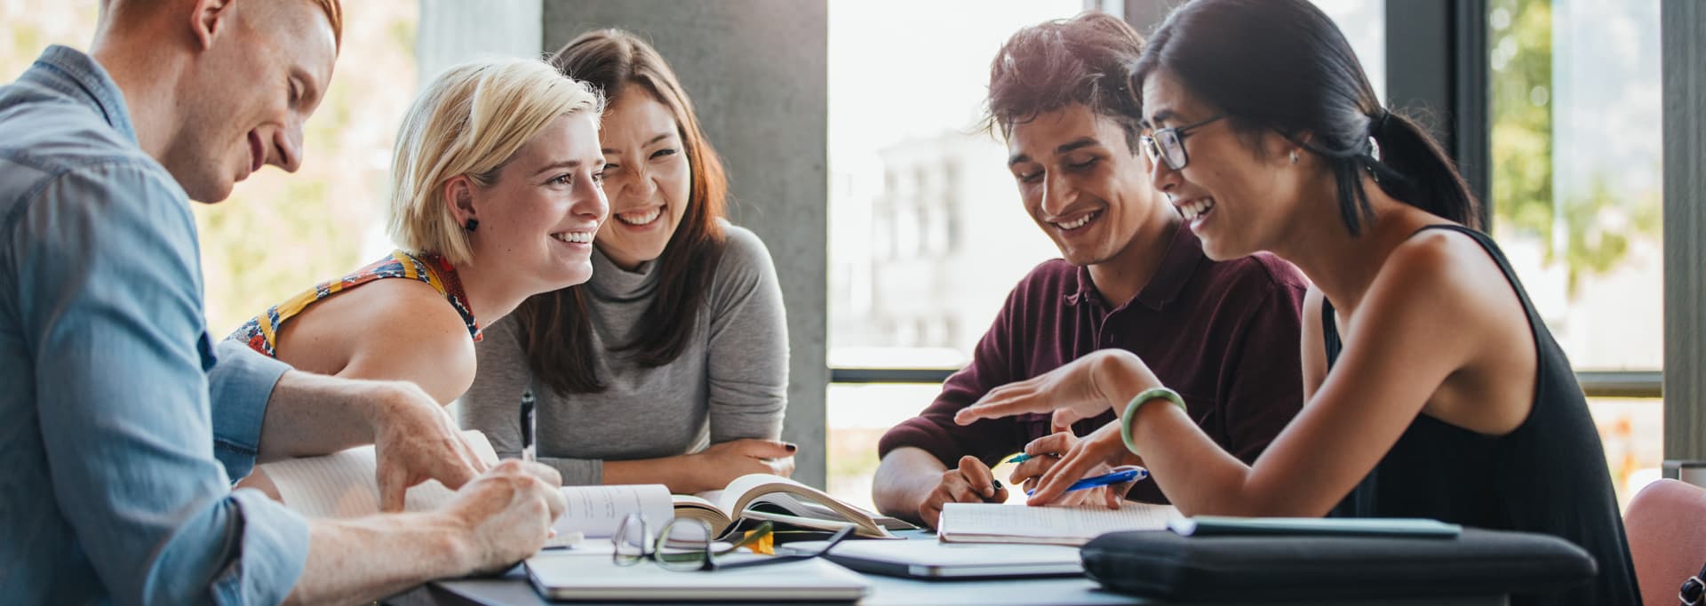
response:
<path fill-rule="evenodd" d="M 96 0 L 0 2 L 7 39 L 0 82 L 15 80 L 48 44 L 87 50 L 96 7 Z M 415 97 L 416 19 L 415 2 L 345 2 L 345 22 L 360 26 L 343 32 L 343 60 L 304 131 L 302 169 L 259 171 L 230 200 L 191 207 L 213 338 L 386 249 L 379 217 L 391 143 Z"/>

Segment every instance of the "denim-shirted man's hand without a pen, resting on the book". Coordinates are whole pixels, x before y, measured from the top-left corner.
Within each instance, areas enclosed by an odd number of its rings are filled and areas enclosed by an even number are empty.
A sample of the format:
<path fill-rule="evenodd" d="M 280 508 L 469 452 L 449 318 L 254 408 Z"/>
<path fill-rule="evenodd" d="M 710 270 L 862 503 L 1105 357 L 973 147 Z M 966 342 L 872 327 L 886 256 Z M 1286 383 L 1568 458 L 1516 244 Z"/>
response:
<path fill-rule="evenodd" d="M 375 382 L 372 398 L 367 420 L 374 428 L 380 510 L 403 510 L 404 493 L 421 481 L 438 480 L 456 490 L 486 471 L 456 420 L 413 382 Z"/>

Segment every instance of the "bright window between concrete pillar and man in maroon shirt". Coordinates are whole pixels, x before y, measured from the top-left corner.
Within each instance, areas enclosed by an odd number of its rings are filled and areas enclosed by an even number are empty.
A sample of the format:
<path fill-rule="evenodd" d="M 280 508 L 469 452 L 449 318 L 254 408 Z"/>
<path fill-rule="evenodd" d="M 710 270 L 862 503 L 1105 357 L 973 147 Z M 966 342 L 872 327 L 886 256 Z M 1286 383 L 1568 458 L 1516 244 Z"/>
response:
<path fill-rule="evenodd" d="M 1005 145 L 976 125 L 1001 43 L 1082 9 L 829 0 L 831 367 L 957 369 L 1018 278 L 1058 256 Z M 870 504 L 877 439 L 930 405 L 935 381 L 829 386 L 831 493 Z"/>

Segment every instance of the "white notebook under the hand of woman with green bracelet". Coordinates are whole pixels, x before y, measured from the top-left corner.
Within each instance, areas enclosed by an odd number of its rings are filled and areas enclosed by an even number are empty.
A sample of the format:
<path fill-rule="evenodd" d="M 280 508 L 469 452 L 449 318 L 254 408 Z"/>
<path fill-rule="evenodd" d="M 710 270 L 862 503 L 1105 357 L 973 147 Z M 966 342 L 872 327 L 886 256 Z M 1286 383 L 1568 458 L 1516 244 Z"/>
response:
<path fill-rule="evenodd" d="M 1123 504 L 1119 509 L 947 504 L 937 536 L 943 543 L 1085 545 L 1116 531 L 1160 531 L 1179 516 L 1172 505 Z"/>

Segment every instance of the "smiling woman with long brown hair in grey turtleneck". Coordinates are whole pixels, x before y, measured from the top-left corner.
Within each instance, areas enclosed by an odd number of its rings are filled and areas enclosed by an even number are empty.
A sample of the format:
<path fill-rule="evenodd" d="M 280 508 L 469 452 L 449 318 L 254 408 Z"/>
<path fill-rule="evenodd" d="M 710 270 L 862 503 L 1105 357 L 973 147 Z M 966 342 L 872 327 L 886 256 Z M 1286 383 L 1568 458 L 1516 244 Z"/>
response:
<path fill-rule="evenodd" d="M 618 29 L 575 38 L 551 63 L 609 99 L 611 220 L 589 283 L 486 328 L 462 425 L 500 454 L 532 446 L 565 485 L 705 492 L 792 473 L 793 446 L 776 440 L 788 389 L 776 270 L 757 236 L 723 219 L 728 179 L 674 70 Z"/>

